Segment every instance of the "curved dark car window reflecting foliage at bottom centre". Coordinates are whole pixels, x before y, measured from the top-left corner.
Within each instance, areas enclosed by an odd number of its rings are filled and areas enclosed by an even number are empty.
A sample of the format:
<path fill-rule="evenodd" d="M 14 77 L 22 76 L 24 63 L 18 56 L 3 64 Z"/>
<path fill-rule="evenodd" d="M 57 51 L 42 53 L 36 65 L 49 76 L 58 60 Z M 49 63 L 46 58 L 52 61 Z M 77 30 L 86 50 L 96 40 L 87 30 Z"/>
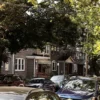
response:
<path fill-rule="evenodd" d="M 60 98 L 55 93 L 42 91 L 30 94 L 26 100 L 60 100 Z"/>

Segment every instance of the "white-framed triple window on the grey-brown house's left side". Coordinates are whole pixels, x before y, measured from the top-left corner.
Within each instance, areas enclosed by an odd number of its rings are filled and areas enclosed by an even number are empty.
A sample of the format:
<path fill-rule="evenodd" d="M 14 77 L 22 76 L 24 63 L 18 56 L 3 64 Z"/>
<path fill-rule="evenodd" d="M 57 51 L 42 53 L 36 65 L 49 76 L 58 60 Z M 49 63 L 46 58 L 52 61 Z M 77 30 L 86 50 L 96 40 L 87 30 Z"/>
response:
<path fill-rule="evenodd" d="M 16 58 L 15 59 L 15 71 L 24 71 L 25 70 L 25 59 Z"/>

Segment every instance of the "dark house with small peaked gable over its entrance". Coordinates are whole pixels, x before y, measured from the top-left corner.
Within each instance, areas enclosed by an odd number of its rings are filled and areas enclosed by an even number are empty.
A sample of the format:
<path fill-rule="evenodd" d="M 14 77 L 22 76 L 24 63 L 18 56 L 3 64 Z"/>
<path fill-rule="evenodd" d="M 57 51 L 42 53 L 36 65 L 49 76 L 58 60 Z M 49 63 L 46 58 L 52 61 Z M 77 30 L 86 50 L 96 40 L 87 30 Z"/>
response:
<path fill-rule="evenodd" d="M 75 74 L 85 75 L 85 54 L 76 49 L 62 50 L 62 51 L 52 51 L 52 73 L 53 74 Z"/>

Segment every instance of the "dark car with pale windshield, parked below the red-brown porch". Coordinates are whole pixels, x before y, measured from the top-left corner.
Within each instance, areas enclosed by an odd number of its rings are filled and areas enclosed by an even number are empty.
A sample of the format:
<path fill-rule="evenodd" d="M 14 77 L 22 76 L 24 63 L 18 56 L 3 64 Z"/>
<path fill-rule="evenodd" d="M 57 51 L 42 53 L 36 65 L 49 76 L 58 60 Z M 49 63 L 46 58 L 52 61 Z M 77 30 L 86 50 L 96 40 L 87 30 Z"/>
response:
<path fill-rule="evenodd" d="M 46 78 L 32 78 L 25 86 L 33 88 L 43 88 L 51 91 L 58 91 L 59 86 Z"/>

